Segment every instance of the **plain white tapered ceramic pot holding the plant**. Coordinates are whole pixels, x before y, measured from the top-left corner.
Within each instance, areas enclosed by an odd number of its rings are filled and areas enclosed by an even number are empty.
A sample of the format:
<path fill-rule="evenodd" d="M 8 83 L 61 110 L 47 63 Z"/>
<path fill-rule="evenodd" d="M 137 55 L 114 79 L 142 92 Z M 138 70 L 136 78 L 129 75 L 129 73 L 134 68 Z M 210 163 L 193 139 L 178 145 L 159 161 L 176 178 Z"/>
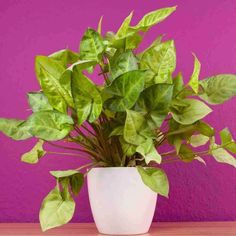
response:
<path fill-rule="evenodd" d="M 93 168 L 88 173 L 93 218 L 102 234 L 147 233 L 157 194 L 144 183 L 135 167 Z"/>

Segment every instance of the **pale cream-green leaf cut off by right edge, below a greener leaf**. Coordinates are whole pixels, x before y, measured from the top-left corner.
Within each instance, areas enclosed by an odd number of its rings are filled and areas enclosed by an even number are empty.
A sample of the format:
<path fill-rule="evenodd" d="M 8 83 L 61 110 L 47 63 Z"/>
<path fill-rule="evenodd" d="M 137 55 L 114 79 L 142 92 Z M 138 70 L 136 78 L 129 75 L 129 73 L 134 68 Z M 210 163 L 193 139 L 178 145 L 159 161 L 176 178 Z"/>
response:
<path fill-rule="evenodd" d="M 228 153 L 224 148 L 220 148 L 215 144 L 213 146 L 213 149 L 211 150 L 211 153 L 216 161 L 236 167 L 236 159 L 230 153 Z"/>

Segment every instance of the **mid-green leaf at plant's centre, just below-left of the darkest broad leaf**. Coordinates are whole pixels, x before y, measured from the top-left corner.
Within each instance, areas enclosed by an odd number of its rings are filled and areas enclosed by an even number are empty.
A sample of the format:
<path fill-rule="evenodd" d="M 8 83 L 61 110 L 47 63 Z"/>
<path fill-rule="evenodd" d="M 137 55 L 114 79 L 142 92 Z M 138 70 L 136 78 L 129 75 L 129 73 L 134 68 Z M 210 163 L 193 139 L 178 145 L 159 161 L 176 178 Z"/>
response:
<path fill-rule="evenodd" d="M 139 135 L 145 118 L 142 113 L 126 110 L 126 120 L 124 127 L 124 139 L 126 142 L 138 145 L 144 141 L 144 137 Z"/>

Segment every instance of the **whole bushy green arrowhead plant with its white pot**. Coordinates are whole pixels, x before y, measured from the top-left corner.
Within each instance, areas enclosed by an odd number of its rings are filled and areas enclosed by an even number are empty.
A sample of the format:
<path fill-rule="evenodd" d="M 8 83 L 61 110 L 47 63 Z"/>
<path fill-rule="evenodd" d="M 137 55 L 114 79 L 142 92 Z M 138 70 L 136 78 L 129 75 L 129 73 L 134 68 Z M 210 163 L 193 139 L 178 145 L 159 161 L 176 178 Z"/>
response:
<path fill-rule="evenodd" d="M 204 163 L 211 155 L 236 167 L 236 142 L 230 131 L 220 131 L 221 142 L 216 143 L 215 130 L 202 120 L 212 112 L 210 106 L 236 95 L 236 75 L 199 80 L 201 65 L 193 55 L 193 73 L 184 83 L 181 73 L 172 75 L 174 41 L 161 36 L 144 51 L 136 51 L 143 32 L 175 9 L 150 12 L 135 26 L 130 25 L 131 13 L 116 33 L 102 34 L 101 18 L 97 30 L 86 30 L 79 53 L 64 49 L 36 57 L 41 90 L 28 93 L 32 114 L 26 120 L 1 118 L 0 130 L 14 140 L 38 139 L 22 155 L 30 164 L 55 154 L 50 145 L 67 150 L 58 155 L 89 159 L 79 168 L 50 172 L 56 186 L 42 203 L 43 231 L 71 220 L 74 196 L 86 176 L 98 230 L 140 234 L 149 230 L 157 194 L 168 196 L 162 163 Z M 98 74 L 102 85 L 94 84 L 90 73 Z M 64 143 L 55 143 L 59 140 Z M 162 145 L 169 145 L 169 151 L 161 153 Z"/>

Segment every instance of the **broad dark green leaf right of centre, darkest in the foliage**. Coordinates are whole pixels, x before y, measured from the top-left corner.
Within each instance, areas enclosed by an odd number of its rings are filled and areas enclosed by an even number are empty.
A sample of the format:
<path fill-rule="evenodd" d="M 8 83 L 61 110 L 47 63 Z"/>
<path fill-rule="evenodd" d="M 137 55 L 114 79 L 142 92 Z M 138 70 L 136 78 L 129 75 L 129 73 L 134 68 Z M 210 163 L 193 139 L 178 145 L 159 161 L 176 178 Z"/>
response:
<path fill-rule="evenodd" d="M 155 84 L 145 89 L 136 104 L 136 110 L 146 112 L 150 127 L 157 128 L 163 123 L 169 112 L 173 86 L 170 84 Z"/>

